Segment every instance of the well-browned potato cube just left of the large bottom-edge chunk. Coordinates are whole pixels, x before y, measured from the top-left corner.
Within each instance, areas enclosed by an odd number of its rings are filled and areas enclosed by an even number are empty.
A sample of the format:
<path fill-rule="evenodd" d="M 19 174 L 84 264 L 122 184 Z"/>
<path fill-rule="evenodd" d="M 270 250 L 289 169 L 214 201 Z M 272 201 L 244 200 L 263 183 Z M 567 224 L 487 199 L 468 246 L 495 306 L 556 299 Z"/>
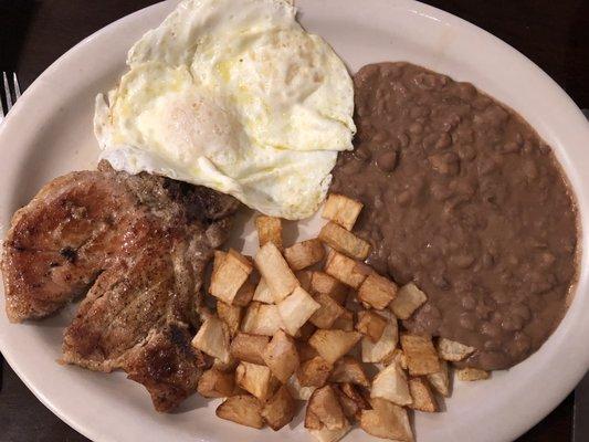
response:
<path fill-rule="evenodd" d="M 308 400 L 305 428 L 341 430 L 349 424 L 330 386 L 316 389 Z"/>

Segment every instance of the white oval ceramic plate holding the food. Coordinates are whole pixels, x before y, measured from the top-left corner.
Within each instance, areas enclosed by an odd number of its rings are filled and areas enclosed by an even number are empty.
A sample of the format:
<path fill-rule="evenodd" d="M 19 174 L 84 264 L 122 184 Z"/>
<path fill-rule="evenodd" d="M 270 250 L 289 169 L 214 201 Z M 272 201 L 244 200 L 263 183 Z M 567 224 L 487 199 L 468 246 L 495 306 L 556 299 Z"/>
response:
<path fill-rule="evenodd" d="M 50 179 L 93 168 L 93 99 L 124 71 L 127 49 L 173 8 L 164 2 L 86 39 L 27 91 L 0 128 L 0 227 Z M 545 73 L 499 40 L 461 19 L 409 0 L 298 0 L 301 20 L 322 34 L 354 72 L 377 61 L 410 61 L 470 81 L 522 114 L 555 149 L 589 225 L 589 127 L 570 98 Z M 312 227 L 302 229 L 304 235 Z M 248 230 L 245 230 L 248 232 Z M 245 238 L 251 248 L 251 235 Z M 582 233 L 582 249 L 589 235 Z M 576 297 L 539 351 L 484 382 L 457 383 L 448 411 L 419 413 L 417 439 L 507 441 L 546 415 L 589 366 L 587 254 Z M 0 296 L 3 309 L 3 296 Z M 192 397 L 175 414 L 157 414 L 144 388 L 123 373 L 62 367 L 62 328 L 73 307 L 48 320 L 11 325 L 0 314 L 1 350 L 29 388 L 60 418 L 95 441 L 306 440 L 298 417 L 278 433 L 214 417 L 217 402 Z M 356 430 L 347 440 L 372 440 Z"/>

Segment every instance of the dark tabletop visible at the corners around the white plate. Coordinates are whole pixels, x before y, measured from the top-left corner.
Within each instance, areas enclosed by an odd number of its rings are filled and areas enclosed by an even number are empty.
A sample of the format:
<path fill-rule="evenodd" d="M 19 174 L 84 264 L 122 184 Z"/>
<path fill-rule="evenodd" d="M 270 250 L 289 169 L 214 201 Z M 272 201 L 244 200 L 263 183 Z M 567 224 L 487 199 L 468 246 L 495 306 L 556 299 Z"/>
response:
<path fill-rule="evenodd" d="M 0 0 L 0 70 L 18 72 L 21 85 L 27 87 L 83 38 L 156 2 Z M 512 44 L 560 84 L 579 107 L 589 107 L 589 0 L 425 3 L 462 17 Z M 0 441 L 86 441 L 41 404 L 3 360 L 0 381 Z M 571 393 L 517 441 L 570 441 L 572 403 Z"/>

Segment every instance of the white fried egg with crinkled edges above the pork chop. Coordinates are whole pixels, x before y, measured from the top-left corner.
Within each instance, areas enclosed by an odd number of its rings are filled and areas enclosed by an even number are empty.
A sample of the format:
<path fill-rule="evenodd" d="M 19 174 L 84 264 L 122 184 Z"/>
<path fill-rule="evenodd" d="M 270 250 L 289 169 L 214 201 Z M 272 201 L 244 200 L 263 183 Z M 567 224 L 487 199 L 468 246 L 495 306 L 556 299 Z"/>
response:
<path fill-rule="evenodd" d="M 353 148 L 351 78 L 285 0 L 185 0 L 96 97 L 101 157 L 230 193 L 262 213 L 312 215 Z"/>

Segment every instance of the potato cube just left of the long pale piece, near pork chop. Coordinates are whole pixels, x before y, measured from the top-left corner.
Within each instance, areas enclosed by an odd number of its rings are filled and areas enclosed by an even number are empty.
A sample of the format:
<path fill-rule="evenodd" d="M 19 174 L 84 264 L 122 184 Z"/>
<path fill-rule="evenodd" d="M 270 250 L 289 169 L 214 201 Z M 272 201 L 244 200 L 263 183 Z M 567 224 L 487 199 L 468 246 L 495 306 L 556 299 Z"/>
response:
<path fill-rule="evenodd" d="M 253 271 L 252 263 L 233 249 L 227 254 L 217 254 L 209 293 L 227 304 L 233 299 Z"/>

